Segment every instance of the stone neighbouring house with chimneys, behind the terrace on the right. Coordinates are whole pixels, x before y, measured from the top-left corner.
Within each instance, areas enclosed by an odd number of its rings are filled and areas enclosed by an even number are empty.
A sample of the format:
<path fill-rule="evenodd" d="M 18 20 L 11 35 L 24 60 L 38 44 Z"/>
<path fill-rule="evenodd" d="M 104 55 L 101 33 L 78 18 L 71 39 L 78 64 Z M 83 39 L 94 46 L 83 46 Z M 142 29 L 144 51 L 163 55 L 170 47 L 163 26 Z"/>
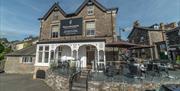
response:
<path fill-rule="evenodd" d="M 132 55 L 143 59 L 167 58 L 165 31 L 176 27 L 176 23 L 164 25 L 153 24 L 152 26 L 141 26 L 138 21 L 134 22 L 133 29 L 128 36 L 130 43 L 142 45 L 132 48 Z"/>

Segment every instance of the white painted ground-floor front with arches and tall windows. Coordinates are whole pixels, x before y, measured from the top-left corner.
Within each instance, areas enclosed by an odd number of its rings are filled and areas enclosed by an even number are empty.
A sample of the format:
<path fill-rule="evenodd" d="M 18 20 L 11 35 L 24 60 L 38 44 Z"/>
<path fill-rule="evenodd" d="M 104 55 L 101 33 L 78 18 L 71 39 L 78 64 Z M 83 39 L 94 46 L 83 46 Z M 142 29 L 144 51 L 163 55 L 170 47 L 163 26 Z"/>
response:
<path fill-rule="evenodd" d="M 51 63 L 75 61 L 76 67 L 91 68 L 106 65 L 105 41 L 38 43 L 35 67 L 50 67 Z"/>

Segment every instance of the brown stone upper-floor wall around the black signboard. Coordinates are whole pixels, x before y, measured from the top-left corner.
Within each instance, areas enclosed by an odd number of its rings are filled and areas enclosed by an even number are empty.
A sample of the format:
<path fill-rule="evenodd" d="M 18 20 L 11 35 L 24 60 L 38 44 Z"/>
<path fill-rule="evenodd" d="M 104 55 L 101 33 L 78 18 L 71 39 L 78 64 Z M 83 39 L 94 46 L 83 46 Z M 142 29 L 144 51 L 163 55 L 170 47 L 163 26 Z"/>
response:
<path fill-rule="evenodd" d="M 71 7 L 73 8 L 73 7 Z M 58 19 L 56 21 L 53 20 L 53 16 L 58 15 Z M 53 25 L 58 25 L 60 27 L 61 20 L 71 19 L 71 18 L 83 18 L 83 33 L 82 35 L 76 36 L 59 36 L 58 38 L 51 38 L 51 27 Z M 60 11 L 54 10 L 46 20 L 43 20 L 41 23 L 41 32 L 40 32 L 40 41 L 44 40 L 72 40 L 72 39 L 85 39 L 86 38 L 86 22 L 87 21 L 95 21 L 96 24 L 96 36 L 88 37 L 90 39 L 105 38 L 107 42 L 112 41 L 112 31 L 115 32 L 115 18 L 116 14 L 107 13 L 99 9 L 97 6 L 94 6 L 94 15 L 87 15 L 87 6 L 85 6 L 81 12 L 72 17 L 65 17 L 61 14 Z"/>

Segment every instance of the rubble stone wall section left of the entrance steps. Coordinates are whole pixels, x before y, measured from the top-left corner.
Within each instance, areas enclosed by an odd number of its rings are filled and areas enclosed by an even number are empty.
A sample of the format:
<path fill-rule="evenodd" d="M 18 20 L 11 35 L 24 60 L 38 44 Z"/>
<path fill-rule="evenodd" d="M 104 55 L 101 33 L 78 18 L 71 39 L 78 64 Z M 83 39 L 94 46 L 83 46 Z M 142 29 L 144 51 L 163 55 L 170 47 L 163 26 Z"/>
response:
<path fill-rule="evenodd" d="M 45 82 L 55 91 L 69 91 L 69 77 L 57 75 L 48 70 Z"/>

